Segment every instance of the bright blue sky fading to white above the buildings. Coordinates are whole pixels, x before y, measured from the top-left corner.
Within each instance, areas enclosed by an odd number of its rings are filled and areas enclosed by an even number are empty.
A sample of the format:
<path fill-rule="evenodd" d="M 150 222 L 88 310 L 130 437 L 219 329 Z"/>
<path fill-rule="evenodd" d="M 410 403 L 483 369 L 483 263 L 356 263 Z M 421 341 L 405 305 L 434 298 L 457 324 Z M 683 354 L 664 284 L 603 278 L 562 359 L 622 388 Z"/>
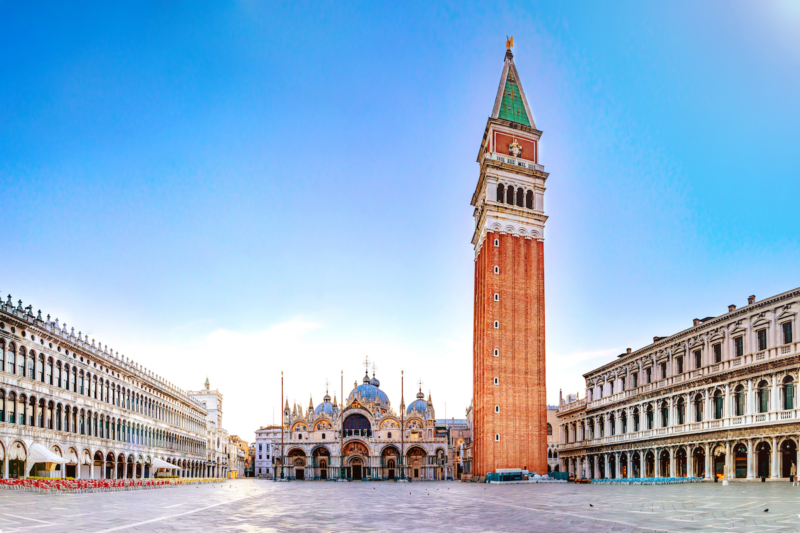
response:
<path fill-rule="evenodd" d="M 245 439 L 280 370 L 307 406 L 367 354 L 463 417 L 506 35 L 551 173 L 551 403 L 800 285 L 796 3 L 3 2 L 0 291 L 208 375 Z"/>

